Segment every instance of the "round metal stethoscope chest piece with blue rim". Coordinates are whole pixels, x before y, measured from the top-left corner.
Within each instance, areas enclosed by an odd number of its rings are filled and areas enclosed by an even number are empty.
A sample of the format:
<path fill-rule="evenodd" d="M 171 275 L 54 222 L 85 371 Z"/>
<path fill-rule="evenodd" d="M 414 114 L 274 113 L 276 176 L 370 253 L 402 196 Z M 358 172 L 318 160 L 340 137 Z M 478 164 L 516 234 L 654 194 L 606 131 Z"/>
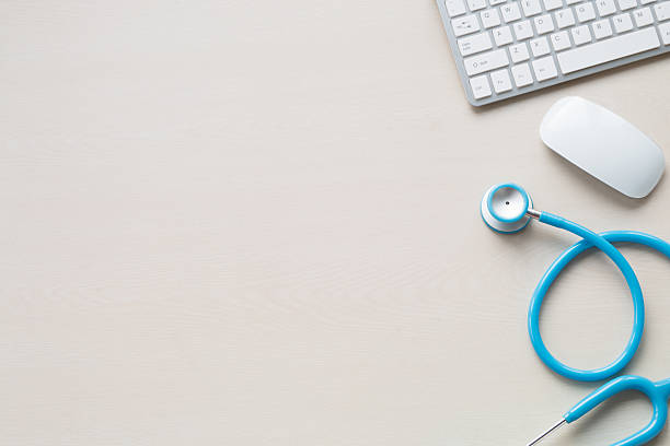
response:
<path fill-rule="evenodd" d="M 539 212 L 522 187 L 513 183 L 492 186 L 482 199 L 482 219 L 492 230 L 513 234 L 523 230 Z"/>

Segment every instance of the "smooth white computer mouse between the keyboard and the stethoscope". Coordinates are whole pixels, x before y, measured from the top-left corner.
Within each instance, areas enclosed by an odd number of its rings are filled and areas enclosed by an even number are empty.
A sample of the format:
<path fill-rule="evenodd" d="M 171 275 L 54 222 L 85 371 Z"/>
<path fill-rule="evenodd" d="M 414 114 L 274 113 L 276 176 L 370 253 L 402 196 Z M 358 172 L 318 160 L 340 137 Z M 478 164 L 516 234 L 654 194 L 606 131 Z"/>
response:
<path fill-rule="evenodd" d="M 628 197 L 649 195 L 666 168 L 663 152 L 649 137 L 581 97 L 554 104 L 540 137 L 554 152 Z"/>

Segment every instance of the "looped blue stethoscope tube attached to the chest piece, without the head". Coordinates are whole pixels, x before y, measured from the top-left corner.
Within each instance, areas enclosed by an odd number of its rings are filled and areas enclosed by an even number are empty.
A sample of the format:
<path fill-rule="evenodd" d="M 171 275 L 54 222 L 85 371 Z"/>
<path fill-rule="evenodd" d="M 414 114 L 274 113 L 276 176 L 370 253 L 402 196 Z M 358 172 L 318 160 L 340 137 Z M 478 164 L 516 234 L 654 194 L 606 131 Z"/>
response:
<path fill-rule="evenodd" d="M 582 240 L 573 245 L 561 256 L 558 256 L 558 258 L 554 260 L 554 262 L 546 270 L 540 280 L 540 283 L 535 287 L 528 312 L 528 331 L 531 343 L 533 344 L 533 348 L 542 362 L 544 362 L 552 371 L 565 376 L 566 378 L 581 382 L 596 382 L 609 378 L 621 372 L 622 368 L 624 368 L 631 362 L 635 355 L 635 352 L 637 351 L 637 348 L 639 347 L 645 326 L 645 302 L 643 300 L 639 281 L 637 280 L 631 263 L 628 263 L 626 258 L 612 244 L 626 242 L 645 245 L 665 254 L 668 258 L 670 258 L 670 244 L 652 235 L 634 231 L 611 231 L 597 234 L 577 223 L 570 222 L 569 220 L 548 212 L 542 212 L 539 220 L 542 223 L 571 232 L 573 234 L 581 237 Z M 611 364 L 601 368 L 584 371 L 563 364 L 546 349 L 544 341 L 542 340 L 542 334 L 540 333 L 540 309 L 542 308 L 542 303 L 544 302 L 546 292 L 552 286 L 558 274 L 561 274 L 563 269 L 581 253 L 592 247 L 599 248 L 610 259 L 612 259 L 612 261 L 623 273 L 626 283 L 628 284 L 631 296 L 633 297 L 633 332 L 623 353 L 621 353 L 621 355 Z"/>

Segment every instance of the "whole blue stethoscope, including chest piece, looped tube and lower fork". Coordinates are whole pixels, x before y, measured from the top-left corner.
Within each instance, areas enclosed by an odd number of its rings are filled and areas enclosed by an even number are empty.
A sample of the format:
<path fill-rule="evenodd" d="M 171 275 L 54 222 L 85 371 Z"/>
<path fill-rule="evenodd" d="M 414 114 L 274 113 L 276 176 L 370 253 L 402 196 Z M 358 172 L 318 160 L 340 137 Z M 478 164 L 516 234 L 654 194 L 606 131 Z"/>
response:
<path fill-rule="evenodd" d="M 533 202 L 525 190 L 511 183 L 492 187 L 486 191 L 482 200 L 482 218 L 492 230 L 498 233 L 517 233 L 528 226 L 530 221 L 534 219 L 551 226 L 571 232 L 582 238 L 581 242 L 570 246 L 554 260 L 535 287 L 528 313 L 528 331 L 533 348 L 547 367 L 566 378 L 580 382 L 597 382 L 609 378 L 621 372 L 633 359 L 639 347 L 645 325 L 645 303 L 639 281 L 628 261 L 612 244 L 620 242 L 637 243 L 654 248 L 669 258 L 670 244 L 652 235 L 634 231 L 610 231 L 597 234 L 558 215 L 536 211 L 532 206 Z M 631 289 L 634 308 L 633 333 L 623 353 L 611 364 L 594 369 L 579 369 L 563 364 L 546 349 L 540 333 L 540 309 L 544 295 L 563 269 L 581 253 L 592 247 L 602 250 L 612 259 L 623 273 Z M 652 383 L 640 376 L 627 375 L 612 379 L 579 401 L 556 424 L 529 443 L 528 446 L 535 445 L 556 429 L 580 419 L 604 400 L 624 390 L 637 390 L 645 394 L 654 407 L 654 415 L 649 424 L 642 431 L 621 442 L 614 443 L 612 446 L 636 446 L 649 442 L 661 432 L 668 419 L 670 378 Z"/>

